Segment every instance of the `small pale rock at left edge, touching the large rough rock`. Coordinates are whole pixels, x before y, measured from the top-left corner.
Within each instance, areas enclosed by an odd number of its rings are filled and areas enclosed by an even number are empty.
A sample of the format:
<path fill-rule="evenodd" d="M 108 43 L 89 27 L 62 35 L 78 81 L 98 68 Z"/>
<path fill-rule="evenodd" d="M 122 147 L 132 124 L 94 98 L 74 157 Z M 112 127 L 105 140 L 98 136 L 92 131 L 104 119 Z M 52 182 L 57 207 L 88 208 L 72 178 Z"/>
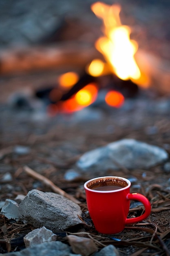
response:
<path fill-rule="evenodd" d="M 19 220 L 19 205 L 17 202 L 11 200 L 11 199 L 6 199 L 4 206 L 2 207 L 1 214 L 7 217 L 9 220 Z"/>

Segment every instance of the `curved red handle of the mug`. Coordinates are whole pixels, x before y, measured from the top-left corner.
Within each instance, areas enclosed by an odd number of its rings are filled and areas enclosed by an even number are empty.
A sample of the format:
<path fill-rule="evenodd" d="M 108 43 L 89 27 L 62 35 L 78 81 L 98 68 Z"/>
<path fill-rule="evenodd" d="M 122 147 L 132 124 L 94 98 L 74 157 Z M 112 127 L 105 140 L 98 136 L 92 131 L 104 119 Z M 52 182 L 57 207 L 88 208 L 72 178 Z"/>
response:
<path fill-rule="evenodd" d="M 144 214 L 142 214 L 139 217 L 126 219 L 126 224 L 137 223 L 137 222 L 140 222 L 140 221 L 148 218 L 148 216 L 150 215 L 151 206 L 150 206 L 149 200 L 144 195 L 141 195 L 139 193 L 132 193 L 132 194 L 129 193 L 127 195 L 127 199 L 128 200 L 137 200 L 137 201 L 141 202 L 142 204 L 144 204 L 145 212 L 144 212 Z"/>

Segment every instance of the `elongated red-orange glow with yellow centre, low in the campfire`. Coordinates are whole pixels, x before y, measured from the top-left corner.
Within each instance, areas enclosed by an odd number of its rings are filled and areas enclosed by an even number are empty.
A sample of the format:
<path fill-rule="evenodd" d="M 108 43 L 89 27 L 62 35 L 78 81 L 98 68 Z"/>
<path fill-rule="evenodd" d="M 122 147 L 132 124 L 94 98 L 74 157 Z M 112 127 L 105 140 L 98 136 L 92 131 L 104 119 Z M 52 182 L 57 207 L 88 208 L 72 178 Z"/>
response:
<path fill-rule="evenodd" d="M 61 112 L 71 113 L 91 105 L 97 98 L 98 89 L 95 83 L 89 83 L 68 99 L 60 103 Z"/>

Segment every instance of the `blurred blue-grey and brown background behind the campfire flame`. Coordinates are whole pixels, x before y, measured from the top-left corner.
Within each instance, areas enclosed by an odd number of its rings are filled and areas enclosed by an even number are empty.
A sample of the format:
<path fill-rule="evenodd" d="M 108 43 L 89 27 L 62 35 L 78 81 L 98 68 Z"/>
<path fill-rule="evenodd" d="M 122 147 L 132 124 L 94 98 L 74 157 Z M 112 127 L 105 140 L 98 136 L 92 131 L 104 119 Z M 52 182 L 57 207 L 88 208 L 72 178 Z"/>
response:
<path fill-rule="evenodd" d="M 102 20 L 91 10 L 95 2 L 0 0 L 1 102 L 16 90 L 30 93 L 32 88 L 51 88 L 65 72 L 81 77 L 93 59 L 104 61 L 95 47 L 104 34 Z M 158 95 L 169 95 L 169 1 L 103 3 L 120 5 L 121 23 L 130 28 L 130 38 L 138 44 L 138 65 L 141 70 L 145 67 L 144 74 L 150 79 L 146 87 L 154 88 Z"/>

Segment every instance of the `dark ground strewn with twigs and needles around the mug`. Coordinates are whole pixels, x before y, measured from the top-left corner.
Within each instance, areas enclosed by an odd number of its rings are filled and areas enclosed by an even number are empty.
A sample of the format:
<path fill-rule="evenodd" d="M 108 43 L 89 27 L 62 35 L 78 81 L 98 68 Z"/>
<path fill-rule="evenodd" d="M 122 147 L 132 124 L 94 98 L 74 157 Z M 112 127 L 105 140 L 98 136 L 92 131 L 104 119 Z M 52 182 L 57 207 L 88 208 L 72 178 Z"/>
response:
<path fill-rule="evenodd" d="M 18 76 L 17 81 L 21 82 L 22 79 L 24 76 Z M 7 78 L 4 81 L 9 84 L 14 80 Z M 15 83 L 11 83 L 11 86 L 15 86 Z M 97 108 L 91 107 L 85 116 L 84 112 L 79 112 L 53 117 L 47 115 L 45 107 L 42 106 L 37 111 L 36 108 L 29 110 L 23 105 L 16 107 L 15 101 L 1 103 L 0 201 L 13 199 L 18 194 L 26 195 L 31 189 L 53 191 L 43 182 L 24 172 L 23 167 L 29 166 L 80 200 L 82 211 L 86 212 L 83 184 L 88 180 L 88 175 L 67 181 L 64 179 L 64 173 L 75 168 L 75 162 L 86 151 L 123 138 L 133 138 L 157 145 L 169 153 L 169 103 L 168 97 L 162 98 L 155 96 L 154 92 L 147 91 L 139 92 L 133 99 L 127 99 L 127 103 L 120 109 L 100 105 Z M 94 111 L 100 112 L 102 117 L 91 119 L 90 115 L 93 115 Z M 29 152 L 17 153 L 17 146 L 26 146 Z M 3 182 L 2 177 L 5 173 L 11 173 L 11 181 Z M 100 175 L 102 173 L 99 173 Z M 120 171 L 108 170 L 106 175 L 135 178 L 134 182 L 132 181 L 131 192 L 142 193 L 148 197 L 152 205 L 150 217 L 145 222 L 126 227 L 113 238 L 95 231 L 91 219 L 83 213 L 82 218 L 87 225 L 71 232 L 90 232 L 91 236 L 100 242 L 99 248 L 113 244 L 120 255 L 169 255 L 170 171 L 165 168 L 164 163 L 150 169 L 128 172 L 124 171 L 122 166 Z M 138 216 L 141 212 L 142 209 L 137 207 L 131 209 L 129 214 Z M 3 216 L 0 226 L 1 253 L 24 248 L 23 236 L 32 230 L 31 227 L 23 226 L 20 222 L 10 222 Z M 67 243 L 62 236 L 58 234 L 57 239 Z M 114 240 L 115 238 L 119 240 Z"/>

